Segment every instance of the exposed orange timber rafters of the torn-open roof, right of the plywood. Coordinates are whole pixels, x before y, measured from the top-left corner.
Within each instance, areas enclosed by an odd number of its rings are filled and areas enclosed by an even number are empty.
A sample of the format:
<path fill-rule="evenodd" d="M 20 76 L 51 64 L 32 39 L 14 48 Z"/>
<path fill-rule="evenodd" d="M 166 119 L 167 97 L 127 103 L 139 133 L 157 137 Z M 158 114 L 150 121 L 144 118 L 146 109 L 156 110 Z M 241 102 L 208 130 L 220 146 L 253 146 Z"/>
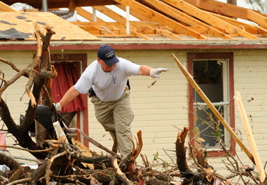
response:
<path fill-rule="evenodd" d="M 259 39 L 267 36 L 267 18 L 259 12 L 240 8 L 218 1 L 193 0 L 114 0 L 116 6 L 125 11 L 130 7 L 130 14 L 139 21 L 129 22 L 130 35 L 146 40 L 158 39 Z M 203 6 L 205 4 L 205 6 Z M 75 22 L 79 27 L 95 34 L 108 37 L 114 34 L 125 35 L 127 20 L 109 11 L 107 7 L 93 6 L 116 22 L 93 22 L 83 9 L 76 8 L 78 14 L 91 22 Z M 228 11 L 228 10 L 231 11 Z M 235 17 L 233 17 L 235 16 Z M 238 21 L 242 18 L 252 21 L 247 24 Z M 107 31 L 102 32 L 102 27 Z"/>

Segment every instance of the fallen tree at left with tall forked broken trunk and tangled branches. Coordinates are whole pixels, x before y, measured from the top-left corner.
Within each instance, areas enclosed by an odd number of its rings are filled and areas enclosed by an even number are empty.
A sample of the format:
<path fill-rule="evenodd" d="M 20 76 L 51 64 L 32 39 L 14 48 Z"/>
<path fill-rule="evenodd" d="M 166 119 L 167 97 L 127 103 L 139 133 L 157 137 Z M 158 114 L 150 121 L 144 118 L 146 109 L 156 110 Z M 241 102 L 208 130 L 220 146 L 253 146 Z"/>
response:
<path fill-rule="evenodd" d="M 122 161 L 116 153 L 112 153 L 101 144 L 97 145 L 101 149 L 110 152 L 111 155 L 102 156 L 93 153 L 95 156 L 85 156 L 82 154 L 81 149 L 75 146 L 73 140 L 66 136 L 65 133 L 66 138 L 62 138 L 61 134 L 55 135 L 55 132 L 64 132 L 64 125 L 60 118 L 58 118 L 58 114 L 55 113 L 53 100 L 50 95 L 52 80 L 57 76 L 57 71 L 55 71 L 53 64 L 50 62 L 49 50 L 50 38 L 55 32 L 48 25 L 46 25 L 44 33 L 41 32 L 36 23 L 34 23 L 34 28 L 37 50 L 31 64 L 25 67 L 25 69 L 18 69 L 10 60 L 0 58 L 0 62 L 8 64 L 17 71 L 17 74 L 10 80 L 6 80 L 4 71 L 1 71 L 0 116 L 1 121 L 8 128 L 7 132 L 11 133 L 18 141 L 18 145 L 21 146 L 3 145 L 3 147 L 28 151 L 40 160 L 41 164 L 36 170 L 31 170 L 29 167 L 22 167 L 13 158 L 0 153 L 0 164 L 7 165 L 10 168 L 7 172 L 1 173 L 1 184 L 49 184 L 50 181 L 75 184 L 116 184 L 117 182 L 123 184 L 145 184 L 141 175 L 143 174 L 143 169 L 142 167 L 136 167 L 135 164 L 135 159 L 142 150 L 141 132 L 137 133 L 138 143 L 136 149 L 134 147 L 132 152 Z M 29 96 L 29 104 L 25 116 L 20 119 L 20 124 L 17 124 L 13 120 L 11 112 L 1 95 L 22 76 L 28 78 L 25 91 Z M 55 128 L 55 130 L 54 128 L 43 128 L 37 121 L 36 110 L 38 110 L 38 105 L 36 102 L 39 102 L 41 95 L 43 96 L 43 105 L 52 110 L 53 122 L 60 121 L 60 128 Z M 43 139 L 45 142 L 40 142 L 39 138 L 33 137 L 39 135 L 40 130 L 32 130 L 32 128 L 39 128 L 41 131 L 43 129 L 46 130 L 47 134 Z M 31 135 L 32 132 L 34 132 L 34 135 Z M 90 137 L 84 136 L 90 139 Z M 90 142 L 97 143 L 92 141 L 92 139 Z M 92 169 L 84 167 L 83 163 L 90 163 Z M 153 177 L 153 174 L 149 175 Z M 158 184 L 165 184 L 160 181 L 170 181 L 167 175 L 162 174 L 159 177 L 160 179 L 157 180 Z M 155 184 L 155 179 L 157 178 L 151 178 L 151 184 Z M 149 180 L 147 181 L 147 184 L 149 184 Z"/>

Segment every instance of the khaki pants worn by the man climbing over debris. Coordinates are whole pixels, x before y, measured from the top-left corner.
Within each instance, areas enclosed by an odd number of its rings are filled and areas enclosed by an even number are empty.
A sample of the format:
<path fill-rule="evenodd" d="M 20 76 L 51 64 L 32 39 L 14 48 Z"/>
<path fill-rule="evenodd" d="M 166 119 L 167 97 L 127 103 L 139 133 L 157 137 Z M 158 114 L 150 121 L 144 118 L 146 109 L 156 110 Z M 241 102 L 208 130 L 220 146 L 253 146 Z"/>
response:
<path fill-rule="evenodd" d="M 104 129 L 110 132 L 118 141 L 118 150 L 121 158 L 125 158 L 132 151 L 131 123 L 135 117 L 130 107 L 130 91 L 124 91 L 121 98 L 114 102 L 102 102 L 98 97 L 92 97 L 91 102 L 95 105 L 95 116 Z"/>

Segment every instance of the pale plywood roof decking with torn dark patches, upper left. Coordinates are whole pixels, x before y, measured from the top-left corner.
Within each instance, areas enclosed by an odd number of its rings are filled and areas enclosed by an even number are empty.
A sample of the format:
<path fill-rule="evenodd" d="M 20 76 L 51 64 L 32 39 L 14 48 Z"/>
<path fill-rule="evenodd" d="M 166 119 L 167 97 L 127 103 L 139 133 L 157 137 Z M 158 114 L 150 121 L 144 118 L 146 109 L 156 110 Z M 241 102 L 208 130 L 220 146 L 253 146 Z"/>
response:
<path fill-rule="evenodd" d="M 9 35 L 7 39 L 11 39 L 12 35 L 16 39 L 20 34 L 22 38 L 17 39 L 35 40 L 33 22 L 37 22 L 41 30 L 46 24 L 52 27 L 55 34 L 51 40 L 100 40 L 71 22 L 48 12 L 0 12 L 0 39 L 4 39 L 5 34 Z"/>

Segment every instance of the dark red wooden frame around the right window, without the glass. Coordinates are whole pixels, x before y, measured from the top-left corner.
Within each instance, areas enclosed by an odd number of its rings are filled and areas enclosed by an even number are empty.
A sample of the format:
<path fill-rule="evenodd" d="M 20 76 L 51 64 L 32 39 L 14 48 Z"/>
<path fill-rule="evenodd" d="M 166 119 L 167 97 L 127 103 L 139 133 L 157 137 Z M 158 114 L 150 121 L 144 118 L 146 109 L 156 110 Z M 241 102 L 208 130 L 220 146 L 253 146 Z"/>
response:
<path fill-rule="evenodd" d="M 233 53 L 187 53 L 188 71 L 193 76 L 193 60 L 212 60 L 226 59 L 228 60 L 228 79 L 229 79 L 229 101 L 230 101 L 230 125 L 235 130 L 235 107 L 234 107 L 234 79 L 233 79 Z M 193 138 L 193 86 L 189 83 L 189 135 Z M 194 146 L 193 139 L 190 144 Z M 207 151 L 209 157 L 224 156 L 225 151 Z M 228 152 L 235 156 L 235 141 L 230 136 L 230 144 Z"/>

